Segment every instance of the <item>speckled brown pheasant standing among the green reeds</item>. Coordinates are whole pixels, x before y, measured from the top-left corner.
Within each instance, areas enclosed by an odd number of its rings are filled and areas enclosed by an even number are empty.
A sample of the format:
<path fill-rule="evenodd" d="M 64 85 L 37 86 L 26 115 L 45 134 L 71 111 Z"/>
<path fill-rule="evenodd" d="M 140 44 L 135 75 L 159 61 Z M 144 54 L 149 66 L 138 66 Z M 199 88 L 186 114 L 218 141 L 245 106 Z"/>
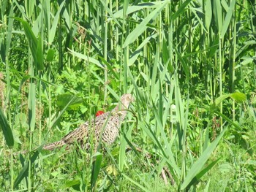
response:
<path fill-rule="evenodd" d="M 134 99 L 131 94 L 122 95 L 121 103 L 113 110 L 98 115 L 93 120 L 83 123 L 79 128 L 71 131 L 58 142 L 45 145 L 42 149 L 54 150 L 55 148 L 78 142 L 85 147 L 86 150 L 89 150 L 91 143 L 93 143 L 95 151 L 97 150 L 100 140 L 108 145 L 113 144 L 119 133 L 118 128 L 127 116 L 127 109 L 132 101 L 134 101 Z M 90 139 L 93 140 L 90 142 Z"/>

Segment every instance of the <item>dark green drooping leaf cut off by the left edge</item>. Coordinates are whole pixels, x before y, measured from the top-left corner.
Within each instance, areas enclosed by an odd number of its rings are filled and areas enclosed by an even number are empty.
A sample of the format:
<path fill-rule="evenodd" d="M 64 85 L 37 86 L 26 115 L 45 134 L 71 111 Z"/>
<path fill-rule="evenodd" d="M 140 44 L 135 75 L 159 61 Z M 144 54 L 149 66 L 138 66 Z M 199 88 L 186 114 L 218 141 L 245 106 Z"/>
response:
<path fill-rule="evenodd" d="M 12 129 L 4 115 L 4 112 L 0 108 L 0 126 L 4 134 L 4 139 L 7 142 L 8 147 L 12 148 L 14 145 L 14 139 L 12 134 Z"/>

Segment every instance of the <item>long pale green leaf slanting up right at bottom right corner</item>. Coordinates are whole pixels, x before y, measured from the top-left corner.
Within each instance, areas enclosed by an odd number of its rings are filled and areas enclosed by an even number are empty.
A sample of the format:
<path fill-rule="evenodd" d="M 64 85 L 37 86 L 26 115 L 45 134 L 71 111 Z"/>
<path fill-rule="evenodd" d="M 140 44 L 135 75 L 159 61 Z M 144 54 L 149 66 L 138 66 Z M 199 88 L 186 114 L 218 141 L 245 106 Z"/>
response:
<path fill-rule="evenodd" d="M 200 172 L 200 170 L 203 168 L 203 166 L 206 164 L 206 161 L 211 156 L 211 153 L 215 150 L 217 147 L 220 139 L 222 139 L 223 135 L 225 134 L 225 131 L 227 131 L 227 127 L 223 129 L 223 131 L 219 134 L 219 136 L 212 142 L 206 150 L 203 151 L 202 155 L 200 155 L 200 158 L 195 161 L 195 163 L 191 166 L 189 169 L 189 172 L 187 173 L 187 176 L 184 179 L 184 182 L 181 184 L 181 190 L 184 190 L 187 188 L 189 183 L 192 181 L 192 179 Z"/>

